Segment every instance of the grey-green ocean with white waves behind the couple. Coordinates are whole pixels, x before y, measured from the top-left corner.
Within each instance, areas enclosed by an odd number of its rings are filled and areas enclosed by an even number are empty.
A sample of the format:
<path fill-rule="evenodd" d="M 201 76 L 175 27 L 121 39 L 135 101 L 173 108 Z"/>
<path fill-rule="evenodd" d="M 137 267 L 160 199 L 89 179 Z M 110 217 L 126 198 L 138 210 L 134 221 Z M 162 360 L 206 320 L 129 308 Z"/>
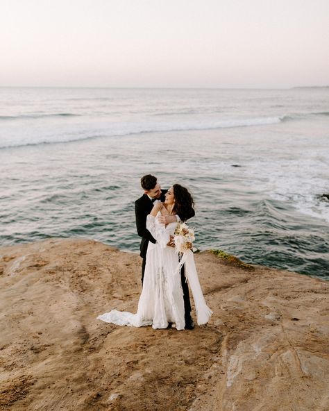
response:
<path fill-rule="evenodd" d="M 329 88 L 0 88 L 0 244 L 138 252 L 140 177 L 194 196 L 200 250 L 329 279 Z"/>

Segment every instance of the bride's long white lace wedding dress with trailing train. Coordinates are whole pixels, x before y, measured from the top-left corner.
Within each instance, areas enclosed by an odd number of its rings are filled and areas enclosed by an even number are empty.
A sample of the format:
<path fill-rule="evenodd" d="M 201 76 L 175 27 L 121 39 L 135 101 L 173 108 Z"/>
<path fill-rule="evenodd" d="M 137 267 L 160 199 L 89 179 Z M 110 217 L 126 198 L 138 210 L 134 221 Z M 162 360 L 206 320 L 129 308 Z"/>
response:
<path fill-rule="evenodd" d="M 169 236 L 174 235 L 177 223 L 170 223 L 165 227 L 159 223 L 159 216 L 160 212 L 157 217 L 148 215 L 146 219 L 146 228 L 157 242 L 156 244 L 149 242 L 147 248 L 144 284 L 137 313 L 112 310 L 99 315 L 98 319 L 119 326 L 151 325 L 153 328 L 167 328 L 168 323 L 171 322 L 177 330 L 184 329 L 184 299 L 178 269 L 178 254 L 173 247 L 167 246 Z M 196 303 L 198 324 L 205 324 L 212 312 L 205 304 L 192 252 L 186 261 L 185 273 L 188 274 L 187 271 L 192 273 L 191 288 Z"/>

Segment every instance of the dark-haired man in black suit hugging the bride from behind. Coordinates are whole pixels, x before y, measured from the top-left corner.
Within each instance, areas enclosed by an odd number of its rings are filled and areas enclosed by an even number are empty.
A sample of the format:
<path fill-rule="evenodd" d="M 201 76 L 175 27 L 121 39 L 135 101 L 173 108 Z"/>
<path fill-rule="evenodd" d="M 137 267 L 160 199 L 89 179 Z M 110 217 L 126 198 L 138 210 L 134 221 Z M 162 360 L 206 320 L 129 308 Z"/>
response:
<path fill-rule="evenodd" d="M 147 174 L 143 176 L 140 180 L 144 194 L 135 201 L 135 216 L 136 216 L 136 227 L 137 233 L 142 237 L 140 242 L 140 256 L 143 259 L 142 262 L 142 283 L 144 280 L 144 271 L 146 265 L 146 251 L 149 242 L 155 244 L 156 240 L 151 235 L 149 230 L 146 228 L 146 217 L 150 214 L 153 203 L 155 200 L 160 200 L 162 203 L 165 201 L 165 194 L 167 190 L 161 190 L 160 184 L 155 176 Z M 173 223 L 175 221 L 180 221 L 179 217 L 176 215 L 168 215 L 163 217 L 165 219 L 165 224 Z M 184 309 L 185 309 L 185 329 L 192 330 L 194 328 L 194 323 L 191 317 L 191 303 L 189 301 L 189 287 L 185 279 L 184 266 L 180 272 L 183 297 L 184 297 Z"/>

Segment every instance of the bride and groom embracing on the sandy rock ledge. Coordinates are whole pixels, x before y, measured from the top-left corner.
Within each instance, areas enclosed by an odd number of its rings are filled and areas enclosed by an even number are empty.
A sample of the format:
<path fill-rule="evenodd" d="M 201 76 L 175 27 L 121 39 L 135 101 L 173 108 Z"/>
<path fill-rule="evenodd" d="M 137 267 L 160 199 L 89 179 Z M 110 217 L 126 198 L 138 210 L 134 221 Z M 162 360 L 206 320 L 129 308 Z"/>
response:
<path fill-rule="evenodd" d="M 196 318 L 206 324 L 212 311 L 203 297 L 194 255 L 188 250 L 177 253 L 174 234 L 178 224 L 194 217 L 194 202 L 185 187 L 174 184 L 161 190 L 157 178 L 148 174 L 141 179 L 144 194 L 135 201 L 137 233 L 142 237 L 142 293 L 137 313 L 112 310 L 97 317 L 119 326 L 194 328 L 189 301 L 192 291 Z"/>

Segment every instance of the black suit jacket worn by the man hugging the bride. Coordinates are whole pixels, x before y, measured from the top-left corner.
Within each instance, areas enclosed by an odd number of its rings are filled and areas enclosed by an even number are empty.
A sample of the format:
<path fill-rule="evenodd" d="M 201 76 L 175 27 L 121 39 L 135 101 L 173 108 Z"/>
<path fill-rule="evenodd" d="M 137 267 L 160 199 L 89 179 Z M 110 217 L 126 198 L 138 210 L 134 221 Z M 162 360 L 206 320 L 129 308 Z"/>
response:
<path fill-rule="evenodd" d="M 168 190 L 161 190 L 160 200 L 165 201 L 165 194 Z M 146 257 L 147 246 L 149 241 L 155 244 L 156 240 L 146 228 L 146 217 L 150 214 L 153 208 L 153 203 L 149 199 L 147 194 L 143 194 L 138 200 L 135 201 L 135 216 L 136 216 L 136 228 L 137 233 L 142 237 L 140 242 L 140 256 Z"/>

